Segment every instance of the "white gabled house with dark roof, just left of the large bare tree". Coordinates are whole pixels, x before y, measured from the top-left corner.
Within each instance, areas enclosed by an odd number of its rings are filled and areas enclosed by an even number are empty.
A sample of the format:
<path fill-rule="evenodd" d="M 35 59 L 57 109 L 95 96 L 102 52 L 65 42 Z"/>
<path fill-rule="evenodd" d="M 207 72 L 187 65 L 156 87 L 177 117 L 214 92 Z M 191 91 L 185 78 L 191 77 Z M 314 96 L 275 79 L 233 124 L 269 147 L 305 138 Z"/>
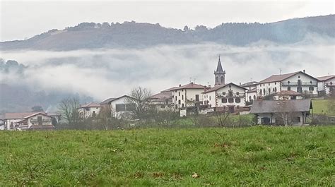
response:
<path fill-rule="evenodd" d="M 129 103 L 131 99 L 135 99 L 128 95 L 122 95 L 121 97 L 113 97 L 100 102 L 102 110 L 112 112 L 112 116 L 117 119 L 129 114 L 134 110 L 134 104 Z"/>

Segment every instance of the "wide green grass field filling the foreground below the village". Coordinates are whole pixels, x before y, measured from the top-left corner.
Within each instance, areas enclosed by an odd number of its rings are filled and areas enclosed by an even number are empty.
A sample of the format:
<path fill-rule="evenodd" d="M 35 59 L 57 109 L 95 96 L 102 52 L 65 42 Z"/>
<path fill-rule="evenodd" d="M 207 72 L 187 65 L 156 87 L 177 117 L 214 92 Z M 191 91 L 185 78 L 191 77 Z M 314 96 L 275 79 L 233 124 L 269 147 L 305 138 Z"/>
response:
<path fill-rule="evenodd" d="M 0 137 L 0 186 L 335 184 L 334 126 L 3 131 Z"/>

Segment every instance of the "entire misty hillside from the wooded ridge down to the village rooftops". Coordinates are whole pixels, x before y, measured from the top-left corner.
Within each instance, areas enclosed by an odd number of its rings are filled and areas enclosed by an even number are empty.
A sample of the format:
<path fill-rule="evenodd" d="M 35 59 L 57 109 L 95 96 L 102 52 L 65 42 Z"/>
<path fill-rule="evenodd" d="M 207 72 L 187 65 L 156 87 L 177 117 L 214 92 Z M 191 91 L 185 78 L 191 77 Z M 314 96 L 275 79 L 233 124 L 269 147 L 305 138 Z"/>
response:
<path fill-rule="evenodd" d="M 0 113 L 35 105 L 54 110 L 69 96 L 100 102 L 139 85 L 153 93 L 190 80 L 213 85 L 218 54 L 227 83 L 261 80 L 279 69 L 334 74 L 334 20 L 331 15 L 193 30 L 81 23 L 0 42 Z"/>

